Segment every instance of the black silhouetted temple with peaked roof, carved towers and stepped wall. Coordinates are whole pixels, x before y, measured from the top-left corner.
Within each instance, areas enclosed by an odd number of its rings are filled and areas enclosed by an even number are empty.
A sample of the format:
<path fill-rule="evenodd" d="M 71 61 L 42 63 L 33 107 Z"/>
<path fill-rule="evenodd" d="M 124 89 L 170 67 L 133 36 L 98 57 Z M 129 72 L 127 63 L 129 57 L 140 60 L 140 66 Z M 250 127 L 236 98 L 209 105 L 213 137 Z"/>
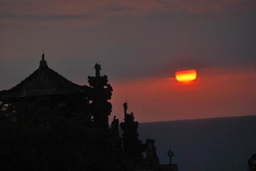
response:
<path fill-rule="evenodd" d="M 33 102 L 38 97 L 47 97 L 48 107 L 58 108 L 58 112 L 68 115 L 81 112 L 87 118 L 85 123 L 94 125 L 103 131 L 109 131 L 116 137 L 122 152 L 134 168 L 148 170 L 178 171 L 177 165 L 160 165 L 154 146 L 154 139 L 139 140 L 137 132 L 139 123 L 134 121 L 134 114 L 127 113 L 128 104 L 124 106 L 124 122 L 114 119 L 109 129 L 108 116 L 112 112 L 111 99 L 113 88 L 108 84 L 106 75 L 100 76 L 101 65 L 95 64 L 95 76 L 88 76 L 88 85 L 78 85 L 67 80 L 50 69 L 42 54 L 39 68 L 20 84 L 8 90 L 0 91 L 0 101 L 4 104 L 14 103 L 21 99 Z M 91 124 L 93 123 L 93 124 Z M 142 153 L 146 152 L 146 157 Z"/>

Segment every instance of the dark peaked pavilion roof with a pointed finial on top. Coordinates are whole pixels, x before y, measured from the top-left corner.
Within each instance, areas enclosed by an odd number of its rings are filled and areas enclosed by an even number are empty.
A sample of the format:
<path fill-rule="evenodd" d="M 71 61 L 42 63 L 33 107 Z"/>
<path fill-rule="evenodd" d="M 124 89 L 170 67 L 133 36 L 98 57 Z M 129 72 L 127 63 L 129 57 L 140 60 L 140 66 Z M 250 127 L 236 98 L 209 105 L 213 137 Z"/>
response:
<path fill-rule="evenodd" d="M 74 84 L 48 68 L 47 64 L 44 63 L 44 54 L 42 57 L 39 68 L 15 87 L 0 91 L 0 99 L 42 95 L 71 95 L 89 91 L 89 86 Z"/>

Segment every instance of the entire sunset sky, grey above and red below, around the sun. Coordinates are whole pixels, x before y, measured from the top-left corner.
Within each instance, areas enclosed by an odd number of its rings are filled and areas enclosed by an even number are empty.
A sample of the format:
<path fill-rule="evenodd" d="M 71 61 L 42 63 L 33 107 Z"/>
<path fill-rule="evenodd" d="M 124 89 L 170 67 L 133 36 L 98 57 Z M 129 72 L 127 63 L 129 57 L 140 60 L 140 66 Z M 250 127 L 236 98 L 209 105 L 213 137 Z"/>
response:
<path fill-rule="evenodd" d="M 88 85 L 102 65 L 136 121 L 256 114 L 256 0 L 0 0 L 0 90 L 39 67 Z M 194 68 L 191 84 L 175 79 Z"/>

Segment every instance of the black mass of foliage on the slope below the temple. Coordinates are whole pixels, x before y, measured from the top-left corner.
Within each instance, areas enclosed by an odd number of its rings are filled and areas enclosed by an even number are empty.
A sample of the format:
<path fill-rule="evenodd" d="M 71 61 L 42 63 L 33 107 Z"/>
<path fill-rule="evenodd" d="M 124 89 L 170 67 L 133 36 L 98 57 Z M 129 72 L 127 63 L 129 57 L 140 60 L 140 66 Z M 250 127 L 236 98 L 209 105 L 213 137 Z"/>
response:
<path fill-rule="evenodd" d="M 82 113 L 61 115 L 20 100 L 0 110 L 0 165 L 4 170 L 131 170 L 120 139 L 86 126 Z"/>

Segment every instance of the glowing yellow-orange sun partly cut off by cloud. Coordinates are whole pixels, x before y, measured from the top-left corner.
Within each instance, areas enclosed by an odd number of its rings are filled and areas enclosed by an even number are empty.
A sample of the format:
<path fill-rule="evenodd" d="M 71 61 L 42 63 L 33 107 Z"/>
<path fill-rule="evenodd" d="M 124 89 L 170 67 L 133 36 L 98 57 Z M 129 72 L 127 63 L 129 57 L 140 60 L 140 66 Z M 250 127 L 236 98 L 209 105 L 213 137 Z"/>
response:
<path fill-rule="evenodd" d="M 196 79 L 196 70 L 177 70 L 175 73 L 175 77 L 178 82 L 190 83 Z"/>

